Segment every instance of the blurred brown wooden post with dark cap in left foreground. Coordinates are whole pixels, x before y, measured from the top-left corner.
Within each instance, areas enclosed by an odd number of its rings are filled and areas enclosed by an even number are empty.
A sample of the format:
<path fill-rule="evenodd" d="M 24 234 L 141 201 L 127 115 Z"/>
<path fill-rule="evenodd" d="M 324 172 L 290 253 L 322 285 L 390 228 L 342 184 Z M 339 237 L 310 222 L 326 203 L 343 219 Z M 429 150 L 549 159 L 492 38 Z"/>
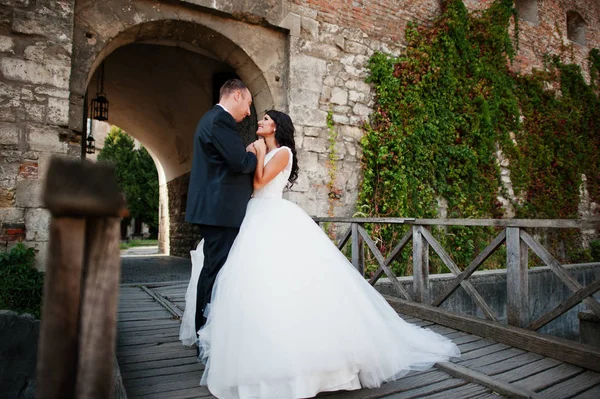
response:
<path fill-rule="evenodd" d="M 125 212 L 114 169 L 54 158 L 43 199 L 52 221 L 36 398 L 111 398 Z"/>

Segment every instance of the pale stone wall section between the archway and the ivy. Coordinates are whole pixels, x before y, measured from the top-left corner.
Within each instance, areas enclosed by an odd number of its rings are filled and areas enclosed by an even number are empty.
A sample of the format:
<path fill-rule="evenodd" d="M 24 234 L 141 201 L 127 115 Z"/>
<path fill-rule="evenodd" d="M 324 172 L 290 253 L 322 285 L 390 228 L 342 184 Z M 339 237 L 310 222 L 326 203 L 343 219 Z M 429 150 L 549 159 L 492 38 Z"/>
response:
<path fill-rule="evenodd" d="M 361 125 L 373 106 L 371 86 L 365 83 L 367 62 L 375 51 L 399 54 L 402 50 L 402 43 L 392 39 L 396 30 L 383 38 L 377 29 L 361 27 L 353 19 L 355 9 L 348 11 L 340 5 L 336 14 L 330 9 L 335 7 L 333 3 L 290 4 L 287 16 L 288 103 L 297 129 L 300 176 L 286 197 L 314 216 L 354 213 Z M 378 19 L 376 13 L 370 15 L 373 22 Z M 327 125 L 328 113 L 332 128 Z M 337 137 L 335 165 L 329 162 L 328 149 L 333 135 Z M 333 176 L 329 173 L 332 167 L 336 170 Z"/>

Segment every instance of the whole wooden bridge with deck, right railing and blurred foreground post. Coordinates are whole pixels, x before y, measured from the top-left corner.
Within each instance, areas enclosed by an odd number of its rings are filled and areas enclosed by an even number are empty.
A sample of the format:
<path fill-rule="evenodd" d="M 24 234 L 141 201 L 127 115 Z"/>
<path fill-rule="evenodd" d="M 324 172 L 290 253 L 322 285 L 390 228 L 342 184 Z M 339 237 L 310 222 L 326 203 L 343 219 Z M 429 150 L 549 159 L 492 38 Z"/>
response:
<path fill-rule="evenodd" d="M 123 285 L 119 290 L 118 238 L 124 204 L 108 168 L 53 160 L 48 171 L 44 203 L 52 213 L 52 222 L 38 344 L 36 397 L 210 398 L 210 392 L 198 385 L 203 369 L 196 361 L 195 349 L 185 348 L 178 341 L 178 319 L 185 306 L 187 282 Z M 370 250 L 379 269 L 369 282 L 375 284 L 380 277 L 387 276 L 397 294 L 397 297 L 386 297 L 392 307 L 405 320 L 451 338 L 462 352 L 459 359 L 438 363 L 431 370 L 411 373 L 377 389 L 319 396 L 340 399 L 600 397 L 598 346 L 536 332 L 580 302 L 593 317 L 600 318 L 600 303 L 594 298 L 600 289 L 600 278 L 583 286 L 527 231 L 532 228 L 585 229 L 589 223 L 598 230 L 597 220 L 321 218 L 316 222 L 350 224 L 339 247 L 351 242 L 352 264 L 364 273 L 364 253 Z M 365 223 L 410 227 L 384 256 L 367 233 Z M 498 231 L 489 245 L 461 268 L 429 231 L 436 225 L 494 226 Z M 390 269 L 391 262 L 408 248 L 409 242 L 412 242 L 412 292 L 403 287 Z M 506 323 L 469 281 L 502 245 L 506 248 Z M 529 309 L 529 251 L 571 291 L 562 303 L 535 320 Z M 454 274 L 453 281 L 435 298 L 430 290 L 430 253 L 437 254 Z M 470 295 L 482 318 L 439 307 L 458 287 Z M 118 362 L 113 361 L 115 355 Z"/>

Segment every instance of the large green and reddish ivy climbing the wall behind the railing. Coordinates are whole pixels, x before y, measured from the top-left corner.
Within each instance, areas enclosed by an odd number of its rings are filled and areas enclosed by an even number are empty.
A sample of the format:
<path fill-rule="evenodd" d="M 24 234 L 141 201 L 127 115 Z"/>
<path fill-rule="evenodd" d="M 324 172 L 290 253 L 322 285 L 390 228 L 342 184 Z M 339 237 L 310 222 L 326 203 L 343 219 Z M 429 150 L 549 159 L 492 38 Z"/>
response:
<path fill-rule="evenodd" d="M 577 217 L 582 173 L 595 182 L 588 184 L 592 198 L 599 197 L 597 86 L 557 59 L 544 73 L 512 72 L 508 27 L 514 15 L 512 0 L 496 0 L 476 15 L 462 1 L 447 0 L 433 25 L 407 28 L 403 55 L 373 55 L 368 81 L 376 105 L 361 141 L 363 213 L 433 218 L 443 199 L 449 218 L 502 217 L 497 198 L 508 196 L 498 150 L 510 160 L 517 197 L 524 198 L 512 204 L 519 217 Z M 597 51 L 591 59 L 597 82 Z M 554 81 L 562 97 L 544 89 Z M 371 233 L 388 251 L 401 237 L 392 226 L 373 225 Z M 433 233 L 466 266 L 495 231 L 449 227 Z M 432 261 L 433 271 L 443 271 Z M 500 257 L 494 262 L 502 266 Z"/>

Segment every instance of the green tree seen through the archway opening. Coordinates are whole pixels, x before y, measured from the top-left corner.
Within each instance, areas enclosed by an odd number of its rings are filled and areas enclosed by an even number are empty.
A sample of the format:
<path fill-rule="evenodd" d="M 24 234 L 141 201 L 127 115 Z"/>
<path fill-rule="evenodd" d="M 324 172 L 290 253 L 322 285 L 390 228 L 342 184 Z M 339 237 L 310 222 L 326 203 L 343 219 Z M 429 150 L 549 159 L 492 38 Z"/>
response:
<path fill-rule="evenodd" d="M 98 154 L 98 160 L 116 165 L 117 182 L 125 194 L 132 217 L 148 224 L 150 234 L 158 234 L 158 174 L 148 151 L 135 149 L 133 139 L 113 127 Z"/>

